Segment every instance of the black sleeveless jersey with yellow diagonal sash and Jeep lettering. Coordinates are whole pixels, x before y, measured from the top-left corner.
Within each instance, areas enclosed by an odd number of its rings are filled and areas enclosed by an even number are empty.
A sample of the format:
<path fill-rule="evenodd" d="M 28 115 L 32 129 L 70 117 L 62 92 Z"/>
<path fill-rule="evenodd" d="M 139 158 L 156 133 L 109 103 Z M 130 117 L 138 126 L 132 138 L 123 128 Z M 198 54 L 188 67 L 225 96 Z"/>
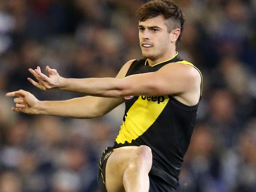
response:
<path fill-rule="evenodd" d="M 173 62 L 195 67 L 176 53 L 172 59 L 153 66 L 148 65 L 147 59 L 136 60 L 128 69 L 126 76 L 155 72 Z M 149 146 L 153 155 L 150 174 L 161 177 L 164 182 L 176 188 L 179 185 L 178 175 L 183 157 L 195 127 L 199 102 L 197 105 L 187 106 L 171 95 L 126 96 L 124 99 L 124 119 L 113 147 Z"/>

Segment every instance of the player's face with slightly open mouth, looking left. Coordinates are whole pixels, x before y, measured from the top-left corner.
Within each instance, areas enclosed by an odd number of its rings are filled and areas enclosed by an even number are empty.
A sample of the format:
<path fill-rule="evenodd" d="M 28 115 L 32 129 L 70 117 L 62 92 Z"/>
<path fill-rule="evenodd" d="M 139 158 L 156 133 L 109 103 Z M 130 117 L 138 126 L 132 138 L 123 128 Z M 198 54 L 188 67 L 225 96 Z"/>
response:
<path fill-rule="evenodd" d="M 171 40 L 163 16 L 139 22 L 139 42 L 144 57 L 150 60 L 165 57 L 171 48 Z"/>

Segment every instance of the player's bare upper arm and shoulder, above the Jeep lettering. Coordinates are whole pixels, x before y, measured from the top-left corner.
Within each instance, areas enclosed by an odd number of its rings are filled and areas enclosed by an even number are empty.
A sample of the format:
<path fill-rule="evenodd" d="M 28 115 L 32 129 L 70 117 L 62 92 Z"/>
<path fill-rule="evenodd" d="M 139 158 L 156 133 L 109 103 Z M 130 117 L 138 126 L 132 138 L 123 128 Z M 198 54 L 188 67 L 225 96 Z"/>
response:
<path fill-rule="evenodd" d="M 198 76 L 200 74 L 194 67 L 172 63 L 156 72 L 127 76 L 122 82 L 122 95 L 182 94 L 200 85 Z"/>

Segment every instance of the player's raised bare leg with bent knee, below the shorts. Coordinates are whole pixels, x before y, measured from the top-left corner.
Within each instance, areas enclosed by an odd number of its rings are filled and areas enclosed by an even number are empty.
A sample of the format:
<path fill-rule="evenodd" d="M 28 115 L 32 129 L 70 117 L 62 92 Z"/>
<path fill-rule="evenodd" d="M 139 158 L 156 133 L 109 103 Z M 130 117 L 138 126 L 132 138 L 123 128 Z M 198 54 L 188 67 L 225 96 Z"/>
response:
<path fill-rule="evenodd" d="M 148 192 L 151 166 L 152 153 L 149 147 L 118 148 L 109 156 L 106 164 L 107 191 Z"/>

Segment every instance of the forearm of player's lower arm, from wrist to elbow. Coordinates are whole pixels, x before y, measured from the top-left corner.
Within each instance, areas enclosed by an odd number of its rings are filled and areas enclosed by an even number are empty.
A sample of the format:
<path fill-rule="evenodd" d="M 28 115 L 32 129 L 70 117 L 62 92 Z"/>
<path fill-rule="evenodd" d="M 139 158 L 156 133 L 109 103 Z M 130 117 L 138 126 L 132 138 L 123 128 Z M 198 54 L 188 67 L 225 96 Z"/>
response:
<path fill-rule="evenodd" d="M 46 114 L 70 118 L 94 118 L 101 116 L 94 106 L 94 98 L 87 96 L 65 101 L 40 101 L 34 114 Z"/>

